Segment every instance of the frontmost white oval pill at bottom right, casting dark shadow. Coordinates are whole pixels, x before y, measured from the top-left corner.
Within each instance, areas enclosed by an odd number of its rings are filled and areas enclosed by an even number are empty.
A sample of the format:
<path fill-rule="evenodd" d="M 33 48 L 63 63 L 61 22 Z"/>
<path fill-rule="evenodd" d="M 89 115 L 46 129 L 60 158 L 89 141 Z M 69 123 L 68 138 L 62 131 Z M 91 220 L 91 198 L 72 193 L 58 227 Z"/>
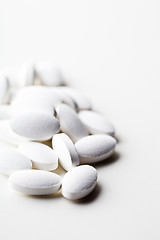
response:
<path fill-rule="evenodd" d="M 67 172 L 62 182 L 62 195 L 71 200 L 86 197 L 97 182 L 97 171 L 89 165 L 78 166 Z"/>

